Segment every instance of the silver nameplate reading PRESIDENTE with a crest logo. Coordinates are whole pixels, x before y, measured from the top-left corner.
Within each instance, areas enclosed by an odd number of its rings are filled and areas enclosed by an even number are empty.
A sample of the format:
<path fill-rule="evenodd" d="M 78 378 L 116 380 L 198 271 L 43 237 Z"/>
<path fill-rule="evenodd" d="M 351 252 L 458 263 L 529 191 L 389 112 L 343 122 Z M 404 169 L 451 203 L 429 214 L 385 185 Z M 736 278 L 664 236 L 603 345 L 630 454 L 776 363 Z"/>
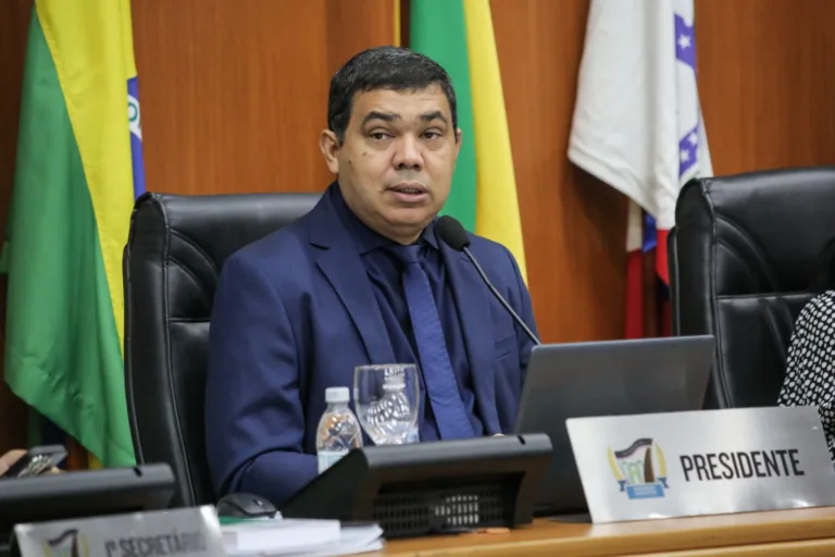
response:
<path fill-rule="evenodd" d="M 593 522 L 835 505 L 812 407 L 565 421 Z"/>

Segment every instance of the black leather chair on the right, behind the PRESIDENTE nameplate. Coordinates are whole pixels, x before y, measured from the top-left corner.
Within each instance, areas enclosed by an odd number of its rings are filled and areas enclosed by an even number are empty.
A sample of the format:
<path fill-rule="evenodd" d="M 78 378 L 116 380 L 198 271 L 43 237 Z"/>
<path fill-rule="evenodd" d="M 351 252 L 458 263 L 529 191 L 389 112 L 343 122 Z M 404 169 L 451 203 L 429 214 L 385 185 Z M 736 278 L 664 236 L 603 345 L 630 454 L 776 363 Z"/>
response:
<path fill-rule="evenodd" d="M 673 334 L 712 334 L 706 408 L 776 405 L 794 322 L 835 237 L 835 168 L 696 180 L 668 244 Z"/>

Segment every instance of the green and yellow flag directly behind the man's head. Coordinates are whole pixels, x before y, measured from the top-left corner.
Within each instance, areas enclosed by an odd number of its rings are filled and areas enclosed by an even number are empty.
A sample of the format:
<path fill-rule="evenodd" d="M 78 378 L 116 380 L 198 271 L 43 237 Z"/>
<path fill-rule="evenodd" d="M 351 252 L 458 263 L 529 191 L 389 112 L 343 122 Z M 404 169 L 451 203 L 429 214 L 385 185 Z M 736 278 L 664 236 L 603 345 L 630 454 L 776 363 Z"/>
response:
<path fill-rule="evenodd" d="M 409 47 L 449 73 L 463 145 L 444 213 L 503 244 L 527 280 L 489 0 L 412 0 Z"/>

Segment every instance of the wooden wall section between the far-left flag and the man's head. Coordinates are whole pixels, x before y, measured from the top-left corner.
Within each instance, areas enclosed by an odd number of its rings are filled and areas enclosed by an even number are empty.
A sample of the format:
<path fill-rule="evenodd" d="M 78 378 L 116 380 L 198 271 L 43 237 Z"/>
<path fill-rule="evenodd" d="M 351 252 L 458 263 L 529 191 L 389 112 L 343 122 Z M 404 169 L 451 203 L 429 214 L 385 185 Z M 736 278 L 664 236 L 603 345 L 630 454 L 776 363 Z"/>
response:
<path fill-rule="evenodd" d="M 333 73 L 394 40 L 392 0 L 133 2 L 147 188 L 316 191 Z"/>

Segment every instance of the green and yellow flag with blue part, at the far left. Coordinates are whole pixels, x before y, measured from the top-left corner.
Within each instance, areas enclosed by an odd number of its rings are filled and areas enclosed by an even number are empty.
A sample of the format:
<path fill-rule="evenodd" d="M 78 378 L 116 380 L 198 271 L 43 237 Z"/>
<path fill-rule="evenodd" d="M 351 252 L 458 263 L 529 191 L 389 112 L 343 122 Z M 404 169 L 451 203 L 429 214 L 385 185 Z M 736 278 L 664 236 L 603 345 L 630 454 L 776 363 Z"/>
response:
<path fill-rule="evenodd" d="M 36 0 L 3 268 L 5 381 L 104 466 L 135 462 L 122 250 L 144 186 L 129 0 Z"/>

